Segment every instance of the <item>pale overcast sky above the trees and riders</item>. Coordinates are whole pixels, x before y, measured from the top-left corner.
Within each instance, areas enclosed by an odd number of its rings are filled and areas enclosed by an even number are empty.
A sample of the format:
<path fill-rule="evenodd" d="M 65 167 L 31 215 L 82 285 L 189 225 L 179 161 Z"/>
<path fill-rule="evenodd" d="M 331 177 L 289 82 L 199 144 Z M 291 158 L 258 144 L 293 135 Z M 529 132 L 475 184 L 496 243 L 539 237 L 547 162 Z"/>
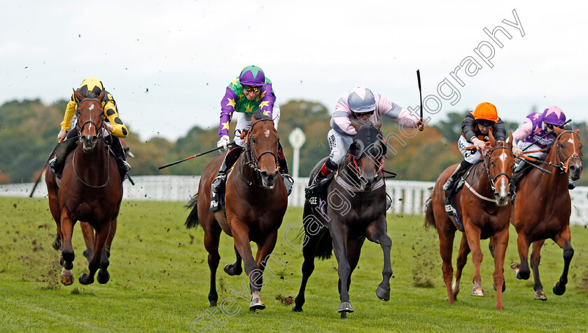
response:
<path fill-rule="evenodd" d="M 587 121 L 587 5 L 549 4 L 3 1 L 0 103 L 69 99 L 85 77 L 97 76 L 132 133 L 175 140 L 195 125 L 218 128 L 226 86 L 257 64 L 280 104 L 311 100 L 332 112 L 339 96 L 363 85 L 417 107 L 420 69 L 429 108 L 435 97 L 442 102 L 429 114 L 433 122 L 486 101 L 508 121 L 552 104 Z M 503 22 L 517 22 L 513 10 L 521 28 Z M 496 32 L 502 48 L 483 31 L 499 25 L 511 36 Z M 493 52 L 492 67 L 477 48 Z M 459 100 L 440 96 L 444 79 Z"/>

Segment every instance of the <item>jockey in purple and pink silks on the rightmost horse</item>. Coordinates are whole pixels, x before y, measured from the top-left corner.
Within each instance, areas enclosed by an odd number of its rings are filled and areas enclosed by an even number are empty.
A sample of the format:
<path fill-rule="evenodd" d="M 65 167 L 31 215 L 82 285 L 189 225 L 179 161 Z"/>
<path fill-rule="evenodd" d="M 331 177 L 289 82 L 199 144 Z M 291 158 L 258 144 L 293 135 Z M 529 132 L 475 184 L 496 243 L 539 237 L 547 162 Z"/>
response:
<path fill-rule="evenodd" d="M 553 128 L 562 128 L 566 125 L 566 114 L 556 106 L 545 109 L 542 113 L 533 112 L 525 117 L 523 123 L 512 133 L 512 152 L 518 156 L 524 150 L 533 151 L 526 156 L 545 160 L 547 149 L 551 147 L 556 139 Z M 568 129 L 568 128 L 564 128 Z M 521 160 L 512 175 L 512 182 L 516 186 L 521 179 L 531 170 L 528 162 Z M 575 183 L 568 179 L 568 189 L 574 189 Z"/>

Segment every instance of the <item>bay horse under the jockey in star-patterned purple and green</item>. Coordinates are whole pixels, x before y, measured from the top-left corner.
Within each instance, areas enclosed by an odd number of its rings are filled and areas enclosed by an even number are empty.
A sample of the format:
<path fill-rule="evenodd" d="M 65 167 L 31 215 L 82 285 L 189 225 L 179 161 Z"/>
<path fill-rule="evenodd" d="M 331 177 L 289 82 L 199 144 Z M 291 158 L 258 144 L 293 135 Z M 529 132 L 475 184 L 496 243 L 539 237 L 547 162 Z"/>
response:
<path fill-rule="evenodd" d="M 279 135 L 272 118 L 255 112 L 246 133 L 244 149 L 235 148 L 229 155 L 241 152 L 225 184 L 224 207 L 210 212 L 211 183 L 227 154 L 220 154 L 208 163 L 198 185 L 198 192 L 186 206 L 192 208 L 186 227 L 202 225 L 210 269 L 210 306 L 216 306 L 216 269 L 221 259 L 218 242 L 221 232 L 235 240 L 235 264 L 225 266 L 230 276 L 240 275 L 241 258 L 251 288 L 250 311 L 265 308 L 260 297 L 262 273 L 274 250 L 283 215 L 288 206 L 286 186 L 278 173 L 277 149 Z M 221 203 L 223 201 L 221 200 Z M 257 244 L 253 259 L 250 242 Z"/>

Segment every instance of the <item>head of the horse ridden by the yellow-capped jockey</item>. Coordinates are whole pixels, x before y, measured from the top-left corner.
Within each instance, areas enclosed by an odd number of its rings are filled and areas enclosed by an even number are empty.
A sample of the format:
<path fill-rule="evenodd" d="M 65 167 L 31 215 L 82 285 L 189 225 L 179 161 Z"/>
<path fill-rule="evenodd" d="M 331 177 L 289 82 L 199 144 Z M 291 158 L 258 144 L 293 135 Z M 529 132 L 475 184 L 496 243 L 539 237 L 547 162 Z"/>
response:
<path fill-rule="evenodd" d="M 78 101 L 78 108 L 76 109 L 78 135 L 85 153 L 90 153 L 94 150 L 99 135 L 104 132 L 104 109 L 100 101 L 104 98 L 105 93 L 103 90 L 97 98 L 87 98 L 78 92 L 73 93 Z"/>

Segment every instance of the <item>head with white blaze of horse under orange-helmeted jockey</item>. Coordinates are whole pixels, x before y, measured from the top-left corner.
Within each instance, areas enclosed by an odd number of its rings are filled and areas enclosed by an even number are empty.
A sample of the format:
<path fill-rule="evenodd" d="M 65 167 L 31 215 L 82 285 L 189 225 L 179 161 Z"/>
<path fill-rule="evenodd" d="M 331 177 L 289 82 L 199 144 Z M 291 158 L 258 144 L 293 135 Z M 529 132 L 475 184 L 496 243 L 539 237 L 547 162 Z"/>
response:
<path fill-rule="evenodd" d="M 490 132 L 490 151 L 488 168 L 490 181 L 494 186 L 494 198 L 499 206 L 507 205 L 510 195 L 510 179 L 514 169 L 514 155 L 512 154 L 512 132 L 507 142 L 496 141 Z"/>

